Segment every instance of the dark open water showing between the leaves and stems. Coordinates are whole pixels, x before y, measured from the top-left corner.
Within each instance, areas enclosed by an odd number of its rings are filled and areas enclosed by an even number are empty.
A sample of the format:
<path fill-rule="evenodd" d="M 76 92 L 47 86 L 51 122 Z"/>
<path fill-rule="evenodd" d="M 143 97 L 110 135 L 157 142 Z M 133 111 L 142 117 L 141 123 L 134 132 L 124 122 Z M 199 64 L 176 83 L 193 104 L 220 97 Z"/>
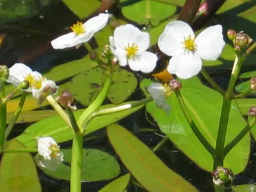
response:
<path fill-rule="evenodd" d="M 56 12 L 56 10 L 58 10 L 58 12 Z M 55 51 L 51 48 L 51 44 L 49 43 L 56 36 L 65 33 L 68 27 L 77 20 L 79 19 L 76 15 L 70 12 L 64 4 L 54 3 L 51 6 L 45 7 L 40 13 L 31 18 L 1 24 L 0 34 L 3 33 L 5 36 L 0 49 L 0 63 L 10 67 L 13 63 L 22 62 L 26 63 L 34 70 L 45 72 L 49 70 L 49 68 L 60 65 L 61 63 L 82 58 L 86 54 L 86 49 L 83 47 L 80 49 Z M 94 47 L 97 46 L 93 40 L 90 43 Z M 252 70 L 252 68 L 245 68 L 244 70 Z M 223 71 L 212 75 L 215 76 L 214 80 L 218 84 L 223 88 L 226 88 L 229 74 L 230 71 Z M 136 92 L 132 94 L 130 100 L 138 100 L 141 98 L 142 95 L 140 90 L 136 90 Z M 154 124 L 154 120 L 150 115 L 147 114 L 147 116 Z M 145 118 L 145 109 L 141 109 L 135 114 L 124 118 L 124 120 L 121 120 L 118 124 L 129 129 L 129 131 L 150 148 L 154 148 L 157 143 L 163 139 L 156 134 L 156 132 L 161 134 L 157 125 L 150 124 Z M 15 129 L 10 138 L 19 135 L 26 127 L 28 127 L 28 125 L 29 124 L 15 125 Z M 155 129 L 156 131 L 142 132 L 140 131 L 140 128 Z M 118 158 L 106 137 L 106 131 L 104 131 L 104 129 L 94 132 L 93 134 L 97 135 L 98 138 L 95 140 L 84 141 L 84 148 L 98 148 L 109 154 L 113 154 Z M 61 148 L 70 147 L 71 141 L 61 144 Z M 156 154 L 168 167 L 179 173 L 179 175 L 191 182 L 191 184 L 195 185 L 199 191 L 213 191 L 211 173 L 198 168 L 198 166 L 191 162 L 188 157 L 184 156 L 171 141 L 164 143 L 164 145 L 157 150 Z M 255 141 L 252 138 L 250 162 L 256 160 L 255 154 Z M 129 172 L 120 159 L 118 161 L 122 167 L 122 175 Z M 236 175 L 234 184 L 254 183 L 256 181 L 255 168 L 255 164 L 249 163 L 243 173 Z M 40 175 L 43 191 L 69 191 L 69 182 L 52 179 L 39 169 L 38 173 Z M 111 180 L 102 182 L 83 182 L 83 191 L 98 191 L 109 182 L 111 182 Z M 140 186 L 134 183 L 136 183 L 136 181 L 131 180 L 128 191 L 145 191 L 145 189 L 140 188 Z"/>

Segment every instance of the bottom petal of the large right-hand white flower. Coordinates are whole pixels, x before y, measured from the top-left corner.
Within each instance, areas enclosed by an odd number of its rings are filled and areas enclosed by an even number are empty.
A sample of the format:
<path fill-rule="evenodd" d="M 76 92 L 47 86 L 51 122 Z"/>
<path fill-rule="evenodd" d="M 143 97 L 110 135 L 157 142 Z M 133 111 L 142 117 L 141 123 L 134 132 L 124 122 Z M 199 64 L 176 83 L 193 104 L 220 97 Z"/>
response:
<path fill-rule="evenodd" d="M 196 76 L 202 68 L 202 60 L 193 52 L 173 56 L 167 67 L 170 74 L 176 74 L 180 79 Z"/>

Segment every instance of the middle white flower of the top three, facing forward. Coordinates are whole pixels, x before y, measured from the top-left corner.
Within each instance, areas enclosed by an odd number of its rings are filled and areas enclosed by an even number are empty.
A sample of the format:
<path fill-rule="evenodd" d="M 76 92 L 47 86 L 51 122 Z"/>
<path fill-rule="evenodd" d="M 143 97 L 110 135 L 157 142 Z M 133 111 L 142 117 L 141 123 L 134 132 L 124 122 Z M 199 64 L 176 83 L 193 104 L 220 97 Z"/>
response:
<path fill-rule="evenodd" d="M 119 26 L 114 36 L 109 36 L 111 51 L 121 66 L 129 65 L 134 70 L 148 73 L 156 67 L 156 54 L 145 51 L 149 46 L 149 35 L 131 24 Z"/>

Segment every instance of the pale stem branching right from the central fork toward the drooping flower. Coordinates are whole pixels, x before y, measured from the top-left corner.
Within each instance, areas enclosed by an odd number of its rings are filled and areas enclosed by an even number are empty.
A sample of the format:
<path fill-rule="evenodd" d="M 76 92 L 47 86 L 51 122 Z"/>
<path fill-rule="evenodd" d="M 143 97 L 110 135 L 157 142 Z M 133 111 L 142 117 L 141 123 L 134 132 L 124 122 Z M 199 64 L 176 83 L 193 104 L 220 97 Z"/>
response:
<path fill-rule="evenodd" d="M 132 104 L 122 104 L 120 106 L 116 106 L 114 108 L 108 108 L 108 109 L 102 109 L 100 111 L 95 111 L 95 113 L 93 113 L 91 116 L 89 116 L 86 121 L 84 122 L 84 126 L 86 126 L 93 118 L 95 118 L 96 116 L 101 116 L 101 115 L 108 115 L 109 113 L 116 113 L 119 111 L 125 111 L 127 109 L 131 109 L 131 108 L 136 108 L 138 106 L 144 105 L 147 102 L 152 101 L 152 97 L 146 97 L 145 99 L 141 99 L 138 101 L 133 102 Z"/>

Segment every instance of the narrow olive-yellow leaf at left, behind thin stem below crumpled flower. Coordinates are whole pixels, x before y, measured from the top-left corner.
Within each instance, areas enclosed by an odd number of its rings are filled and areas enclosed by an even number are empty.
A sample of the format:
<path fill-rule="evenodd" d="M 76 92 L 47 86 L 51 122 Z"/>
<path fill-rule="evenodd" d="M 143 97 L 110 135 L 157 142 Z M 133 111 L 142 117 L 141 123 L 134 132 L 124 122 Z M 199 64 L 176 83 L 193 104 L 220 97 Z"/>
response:
<path fill-rule="evenodd" d="M 10 122 L 13 114 L 14 112 L 7 113 L 7 123 Z M 58 115 L 58 113 L 53 110 L 21 111 L 16 123 L 38 122 L 44 118 L 49 118 L 56 115 Z"/>

